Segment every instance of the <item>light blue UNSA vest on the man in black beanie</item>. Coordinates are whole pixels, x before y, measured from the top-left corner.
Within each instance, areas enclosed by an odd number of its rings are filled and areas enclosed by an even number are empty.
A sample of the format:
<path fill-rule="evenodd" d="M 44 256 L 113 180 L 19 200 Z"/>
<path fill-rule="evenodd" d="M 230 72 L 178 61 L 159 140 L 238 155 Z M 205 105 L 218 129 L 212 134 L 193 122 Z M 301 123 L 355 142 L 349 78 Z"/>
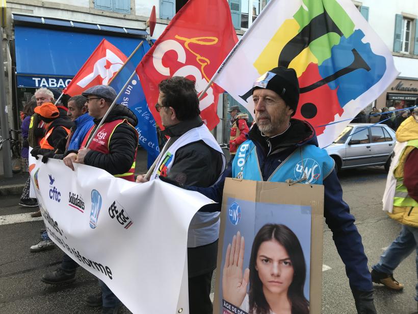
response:
<path fill-rule="evenodd" d="M 334 160 L 328 153 L 311 144 L 305 144 L 288 156 L 273 171 L 267 181 L 322 184 L 334 169 Z M 232 161 L 232 176 L 245 180 L 263 181 L 258 164 L 257 150 L 251 140 L 241 144 Z"/>

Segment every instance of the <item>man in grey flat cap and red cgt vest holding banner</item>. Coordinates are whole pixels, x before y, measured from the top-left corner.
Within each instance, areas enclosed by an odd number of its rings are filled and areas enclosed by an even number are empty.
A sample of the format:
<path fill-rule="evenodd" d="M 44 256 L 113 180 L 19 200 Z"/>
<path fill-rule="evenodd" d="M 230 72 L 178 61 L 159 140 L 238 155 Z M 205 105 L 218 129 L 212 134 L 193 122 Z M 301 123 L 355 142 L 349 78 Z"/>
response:
<path fill-rule="evenodd" d="M 74 170 L 73 162 L 87 164 L 106 170 L 111 175 L 134 182 L 135 160 L 138 147 L 138 132 L 135 126 L 138 119 L 129 108 L 115 105 L 94 136 L 89 148 L 85 148 L 101 119 L 116 98 L 115 90 L 107 85 L 96 85 L 82 93 L 87 100 L 89 114 L 94 125 L 87 132 L 78 151 L 70 151 L 64 157 L 64 163 Z M 75 269 L 68 272 L 68 278 L 75 276 Z M 117 313 L 121 302 L 109 287 L 99 280 L 102 293 L 89 296 L 90 306 L 102 305 L 102 314 Z"/>

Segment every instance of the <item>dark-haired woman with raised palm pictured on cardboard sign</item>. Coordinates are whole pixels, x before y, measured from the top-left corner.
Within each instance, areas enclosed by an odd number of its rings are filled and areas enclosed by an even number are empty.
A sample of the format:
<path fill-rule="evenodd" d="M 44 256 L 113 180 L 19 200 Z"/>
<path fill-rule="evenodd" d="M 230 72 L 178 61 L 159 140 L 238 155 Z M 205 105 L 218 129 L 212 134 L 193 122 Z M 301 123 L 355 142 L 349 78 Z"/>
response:
<path fill-rule="evenodd" d="M 305 258 L 295 233 L 284 225 L 264 225 L 254 238 L 249 268 L 243 272 L 244 249 L 244 237 L 238 231 L 226 249 L 223 299 L 249 314 L 308 314 L 309 302 L 303 294 Z"/>

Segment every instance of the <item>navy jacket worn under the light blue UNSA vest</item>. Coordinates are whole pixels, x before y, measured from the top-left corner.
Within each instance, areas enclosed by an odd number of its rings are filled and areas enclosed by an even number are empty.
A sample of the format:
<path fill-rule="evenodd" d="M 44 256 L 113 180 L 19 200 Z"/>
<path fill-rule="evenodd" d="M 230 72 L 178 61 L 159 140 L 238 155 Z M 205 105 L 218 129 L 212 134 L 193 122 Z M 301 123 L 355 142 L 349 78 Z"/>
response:
<path fill-rule="evenodd" d="M 263 180 L 267 180 L 280 163 L 296 148 L 305 144 L 318 146 L 314 129 L 307 122 L 298 119 L 291 119 L 289 129 L 282 135 L 272 138 L 263 136 L 257 126 L 254 125 L 247 138 L 252 140 L 256 146 Z M 220 211 L 225 178 L 231 177 L 232 166 L 231 162 L 229 162 L 218 184 L 209 188 L 195 186 L 186 188 L 196 190 L 218 202 L 218 204 L 203 207 L 201 211 Z M 367 257 L 364 254 L 361 236 L 354 225 L 355 219 L 350 214 L 349 206 L 343 201 L 343 190 L 335 170 L 328 177 L 324 178 L 323 184 L 325 190 L 325 222 L 332 231 L 332 238 L 338 254 L 346 265 L 350 286 L 360 291 L 372 291 L 372 278 L 367 266 Z"/>

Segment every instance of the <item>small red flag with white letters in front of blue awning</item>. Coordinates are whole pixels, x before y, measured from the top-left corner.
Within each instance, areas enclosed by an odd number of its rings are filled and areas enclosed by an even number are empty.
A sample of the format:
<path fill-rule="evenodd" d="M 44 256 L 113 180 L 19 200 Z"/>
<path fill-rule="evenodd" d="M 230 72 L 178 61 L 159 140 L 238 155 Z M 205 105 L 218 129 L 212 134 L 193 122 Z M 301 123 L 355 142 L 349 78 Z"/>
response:
<path fill-rule="evenodd" d="M 89 87 L 108 85 L 126 59 L 119 49 L 103 38 L 63 92 L 75 96 Z"/>

